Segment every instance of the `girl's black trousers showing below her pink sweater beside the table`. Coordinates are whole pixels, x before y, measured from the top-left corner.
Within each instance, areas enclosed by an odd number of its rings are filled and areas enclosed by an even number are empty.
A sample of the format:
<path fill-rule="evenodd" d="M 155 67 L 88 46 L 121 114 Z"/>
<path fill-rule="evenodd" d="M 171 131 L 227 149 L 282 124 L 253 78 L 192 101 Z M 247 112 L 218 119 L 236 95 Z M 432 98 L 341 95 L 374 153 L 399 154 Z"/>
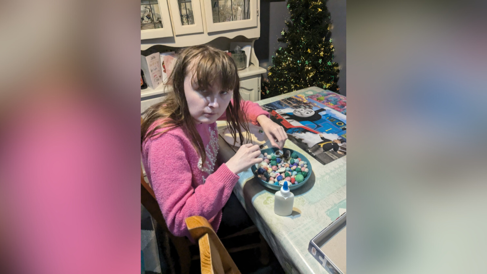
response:
<path fill-rule="evenodd" d="M 248 217 L 237 196 L 232 192 L 229 200 L 222 209 L 223 216 L 217 235 L 224 238 L 253 226 L 252 220 Z"/>

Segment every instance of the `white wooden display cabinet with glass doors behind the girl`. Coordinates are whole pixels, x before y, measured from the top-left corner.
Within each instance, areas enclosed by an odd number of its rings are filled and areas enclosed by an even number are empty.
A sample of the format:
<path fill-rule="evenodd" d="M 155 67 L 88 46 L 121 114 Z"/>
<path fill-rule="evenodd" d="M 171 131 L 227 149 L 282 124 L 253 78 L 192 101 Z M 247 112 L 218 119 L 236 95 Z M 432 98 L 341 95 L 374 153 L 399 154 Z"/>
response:
<path fill-rule="evenodd" d="M 250 42 L 250 65 L 239 70 L 240 93 L 244 100 L 258 101 L 260 75 L 266 72 L 253 50 L 260 36 L 259 6 L 260 0 L 141 0 L 141 50 L 200 44 L 227 50 L 231 42 Z M 164 85 L 142 90 L 141 113 L 167 92 Z"/>

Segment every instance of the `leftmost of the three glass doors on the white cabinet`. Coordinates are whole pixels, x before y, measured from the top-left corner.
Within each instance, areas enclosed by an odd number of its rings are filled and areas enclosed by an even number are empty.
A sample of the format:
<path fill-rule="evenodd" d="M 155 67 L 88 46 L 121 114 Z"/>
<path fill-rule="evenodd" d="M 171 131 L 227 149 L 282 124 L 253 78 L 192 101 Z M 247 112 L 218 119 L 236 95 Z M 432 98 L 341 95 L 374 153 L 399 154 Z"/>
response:
<path fill-rule="evenodd" d="M 140 0 L 141 39 L 173 36 L 167 2 Z"/>

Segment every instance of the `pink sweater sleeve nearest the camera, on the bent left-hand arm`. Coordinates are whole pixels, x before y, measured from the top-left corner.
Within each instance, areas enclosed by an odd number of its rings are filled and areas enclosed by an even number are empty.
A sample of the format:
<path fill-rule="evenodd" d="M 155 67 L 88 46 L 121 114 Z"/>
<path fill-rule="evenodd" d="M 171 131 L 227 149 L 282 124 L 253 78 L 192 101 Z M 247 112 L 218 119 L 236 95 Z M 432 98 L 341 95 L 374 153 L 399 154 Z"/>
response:
<path fill-rule="evenodd" d="M 150 143 L 147 164 L 157 202 L 175 236 L 189 237 L 185 223 L 188 217 L 202 216 L 207 220 L 215 217 L 240 178 L 222 164 L 204 185 L 193 188 L 185 148 L 179 137 L 167 133 Z"/>

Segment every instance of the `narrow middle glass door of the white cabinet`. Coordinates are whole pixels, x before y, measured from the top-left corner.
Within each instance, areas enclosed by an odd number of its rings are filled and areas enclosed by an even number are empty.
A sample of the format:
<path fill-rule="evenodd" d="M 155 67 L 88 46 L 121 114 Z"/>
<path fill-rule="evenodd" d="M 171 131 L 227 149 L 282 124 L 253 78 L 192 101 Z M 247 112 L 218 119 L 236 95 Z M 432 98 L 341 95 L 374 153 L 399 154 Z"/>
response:
<path fill-rule="evenodd" d="M 203 32 L 200 0 L 169 0 L 176 35 Z"/>

